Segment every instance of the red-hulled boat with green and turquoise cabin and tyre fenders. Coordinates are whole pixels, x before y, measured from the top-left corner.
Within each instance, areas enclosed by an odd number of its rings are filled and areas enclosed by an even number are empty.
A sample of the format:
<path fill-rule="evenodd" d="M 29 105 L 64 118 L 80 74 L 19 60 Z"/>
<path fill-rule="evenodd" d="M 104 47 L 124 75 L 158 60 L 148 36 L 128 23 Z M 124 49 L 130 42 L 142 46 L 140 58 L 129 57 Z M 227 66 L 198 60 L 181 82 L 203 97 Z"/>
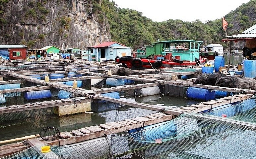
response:
<path fill-rule="evenodd" d="M 146 46 L 147 57 L 117 56 L 115 62 L 127 68 L 169 68 L 203 65 L 206 58 L 200 57 L 202 41 L 161 41 Z"/>

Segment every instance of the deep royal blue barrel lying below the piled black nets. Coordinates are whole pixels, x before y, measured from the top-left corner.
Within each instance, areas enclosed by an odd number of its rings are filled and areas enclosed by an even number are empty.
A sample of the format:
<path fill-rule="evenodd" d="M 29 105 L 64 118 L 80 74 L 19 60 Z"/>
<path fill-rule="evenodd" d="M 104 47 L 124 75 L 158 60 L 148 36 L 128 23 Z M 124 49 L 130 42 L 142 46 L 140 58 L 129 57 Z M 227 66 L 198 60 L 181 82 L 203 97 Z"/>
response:
<path fill-rule="evenodd" d="M 215 91 L 205 88 L 188 87 L 187 98 L 210 101 L 215 98 Z"/>

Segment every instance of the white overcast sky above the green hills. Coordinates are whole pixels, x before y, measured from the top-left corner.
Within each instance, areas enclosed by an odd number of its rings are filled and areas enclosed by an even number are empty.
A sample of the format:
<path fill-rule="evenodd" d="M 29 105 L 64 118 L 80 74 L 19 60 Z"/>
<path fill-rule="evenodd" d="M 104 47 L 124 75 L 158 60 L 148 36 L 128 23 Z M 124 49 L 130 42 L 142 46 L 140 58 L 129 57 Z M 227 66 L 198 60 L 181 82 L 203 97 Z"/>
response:
<path fill-rule="evenodd" d="M 142 12 L 153 21 L 180 19 L 182 21 L 220 19 L 250 0 L 110 0 L 120 8 Z"/>

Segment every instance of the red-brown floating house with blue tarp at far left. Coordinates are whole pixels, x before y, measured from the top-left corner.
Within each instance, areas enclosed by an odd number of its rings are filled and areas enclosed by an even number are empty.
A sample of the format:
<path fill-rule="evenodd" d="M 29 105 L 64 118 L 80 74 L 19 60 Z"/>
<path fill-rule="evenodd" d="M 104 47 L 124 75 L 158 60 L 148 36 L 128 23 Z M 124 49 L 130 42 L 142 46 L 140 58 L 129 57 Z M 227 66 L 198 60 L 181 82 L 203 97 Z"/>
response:
<path fill-rule="evenodd" d="M 5 59 L 26 59 L 27 46 L 25 45 L 0 45 L 0 56 Z"/>

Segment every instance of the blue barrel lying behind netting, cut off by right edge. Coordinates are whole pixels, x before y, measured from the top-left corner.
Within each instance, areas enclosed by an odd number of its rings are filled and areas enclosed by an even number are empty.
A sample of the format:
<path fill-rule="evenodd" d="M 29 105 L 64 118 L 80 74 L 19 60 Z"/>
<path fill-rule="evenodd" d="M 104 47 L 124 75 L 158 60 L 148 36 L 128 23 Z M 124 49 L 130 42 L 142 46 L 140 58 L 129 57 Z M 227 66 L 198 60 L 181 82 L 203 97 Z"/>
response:
<path fill-rule="evenodd" d="M 237 113 L 242 113 L 256 107 L 255 99 L 246 99 L 235 106 Z"/>

